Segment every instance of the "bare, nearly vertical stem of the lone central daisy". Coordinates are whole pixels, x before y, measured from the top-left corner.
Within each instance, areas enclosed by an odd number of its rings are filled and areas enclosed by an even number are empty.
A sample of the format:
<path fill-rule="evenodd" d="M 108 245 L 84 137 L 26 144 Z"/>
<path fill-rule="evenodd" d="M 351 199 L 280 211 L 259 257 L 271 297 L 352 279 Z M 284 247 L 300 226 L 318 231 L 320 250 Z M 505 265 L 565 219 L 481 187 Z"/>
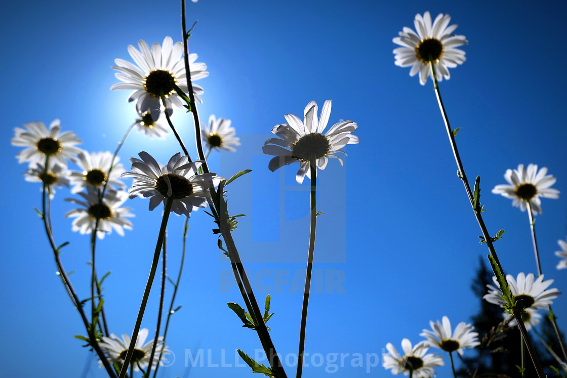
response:
<path fill-rule="evenodd" d="M 311 169 L 311 226 L 309 231 L 309 251 L 307 254 L 307 270 L 305 273 L 305 288 L 303 290 L 303 306 L 301 309 L 301 326 L 299 327 L 299 352 L 297 357 L 296 378 L 301 378 L 303 370 L 303 351 L 305 349 L 305 329 L 307 326 L 307 305 L 311 291 L 311 273 L 313 270 L 313 255 L 315 252 L 315 232 L 317 230 L 317 168 L 316 160 L 310 161 Z"/>

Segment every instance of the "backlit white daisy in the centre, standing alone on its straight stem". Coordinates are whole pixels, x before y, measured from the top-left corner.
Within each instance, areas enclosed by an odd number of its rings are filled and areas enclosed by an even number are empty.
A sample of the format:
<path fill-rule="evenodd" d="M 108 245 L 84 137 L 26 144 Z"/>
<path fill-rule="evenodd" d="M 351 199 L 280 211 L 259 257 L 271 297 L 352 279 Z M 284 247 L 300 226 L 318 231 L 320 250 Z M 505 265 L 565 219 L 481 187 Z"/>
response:
<path fill-rule="evenodd" d="M 270 138 L 262 147 L 264 154 L 276 156 L 268 164 L 270 171 L 274 172 L 282 165 L 298 162 L 300 168 L 295 180 L 301 184 L 305 175 L 311 178 L 310 160 L 315 160 L 319 169 L 327 167 L 328 158 L 337 158 L 341 165 L 343 164 L 342 159 L 335 154 L 345 154 L 340 148 L 358 143 L 358 137 L 351 134 L 358 125 L 353 121 L 341 121 L 333 125 L 327 133 L 321 134 L 329 121 L 331 100 L 323 104 L 320 120 L 317 118 L 317 111 L 317 103 L 311 101 L 303 112 L 303 122 L 294 114 L 286 114 L 284 117 L 289 124 L 273 127 L 272 133 L 280 138 Z"/>

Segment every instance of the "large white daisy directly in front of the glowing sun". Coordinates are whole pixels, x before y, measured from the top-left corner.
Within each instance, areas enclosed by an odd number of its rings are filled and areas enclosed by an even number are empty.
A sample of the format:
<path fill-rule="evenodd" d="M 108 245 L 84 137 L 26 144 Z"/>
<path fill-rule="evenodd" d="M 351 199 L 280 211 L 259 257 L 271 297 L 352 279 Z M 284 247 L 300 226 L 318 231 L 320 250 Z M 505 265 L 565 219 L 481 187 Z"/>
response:
<path fill-rule="evenodd" d="M 161 112 L 161 99 L 163 94 L 166 97 L 167 112 L 171 116 L 173 109 L 171 105 L 183 108 L 183 103 L 171 80 L 185 93 L 189 91 L 187 87 L 187 76 L 185 74 L 185 63 L 181 58 L 183 55 L 183 44 L 173 43 L 171 37 L 165 37 L 163 44 L 154 43 L 150 46 L 146 41 L 138 41 L 139 50 L 134 46 L 128 46 L 130 56 L 138 66 L 123 59 L 115 60 L 116 66 L 112 68 L 120 71 L 116 73 L 116 78 L 122 83 L 114 84 L 111 90 L 134 90 L 128 97 L 128 102 L 136 100 L 136 110 L 139 113 L 151 112 L 154 121 L 159 118 Z M 191 80 L 202 79 L 209 76 L 206 71 L 205 63 L 196 63 L 197 54 L 189 54 L 189 70 Z M 195 100 L 202 103 L 200 94 L 203 88 L 193 84 L 193 94 Z"/>

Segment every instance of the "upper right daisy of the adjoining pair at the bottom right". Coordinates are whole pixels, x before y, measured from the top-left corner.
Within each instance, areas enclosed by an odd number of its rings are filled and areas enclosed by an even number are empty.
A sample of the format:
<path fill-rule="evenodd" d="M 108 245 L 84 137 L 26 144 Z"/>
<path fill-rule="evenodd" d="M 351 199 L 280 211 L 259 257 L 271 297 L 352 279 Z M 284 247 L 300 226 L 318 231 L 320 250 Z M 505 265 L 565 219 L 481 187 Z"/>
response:
<path fill-rule="evenodd" d="M 429 325 L 433 330 L 424 329 L 424 333 L 421 333 L 420 336 L 426 337 L 431 347 L 436 347 L 450 353 L 456 351 L 458 354 L 463 355 L 463 348 L 474 348 L 480 345 L 477 339 L 479 334 L 472 332 L 475 327 L 466 324 L 464 321 L 457 325 L 452 336 L 451 322 L 446 316 L 443 316 L 443 323 L 439 320 L 437 323 L 430 321 Z"/>

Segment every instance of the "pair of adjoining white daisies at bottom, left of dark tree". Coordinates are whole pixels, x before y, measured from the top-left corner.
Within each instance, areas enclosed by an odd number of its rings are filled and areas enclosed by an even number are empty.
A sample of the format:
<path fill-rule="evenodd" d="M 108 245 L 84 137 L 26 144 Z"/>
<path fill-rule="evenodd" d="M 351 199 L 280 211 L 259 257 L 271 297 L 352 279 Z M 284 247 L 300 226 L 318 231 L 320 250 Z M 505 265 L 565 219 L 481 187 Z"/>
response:
<path fill-rule="evenodd" d="M 401 341 L 404 351 L 402 356 L 391 343 L 387 343 L 388 353 L 382 356 L 382 366 L 392 369 L 394 375 L 404 373 L 416 378 L 430 378 L 436 374 L 434 367 L 445 364 L 442 356 L 434 353 L 426 354 L 430 347 L 441 349 L 449 354 L 456 351 L 459 355 L 463 355 L 463 349 L 480 345 L 479 334 L 473 332 L 475 328 L 464 321 L 460 322 L 454 331 L 446 316 L 443 316 L 442 321 L 430 321 L 429 324 L 431 329 L 424 329 L 424 332 L 420 334 L 426 338 L 424 341 L 413 347 L 409 339 L 404 338 Z"/>

